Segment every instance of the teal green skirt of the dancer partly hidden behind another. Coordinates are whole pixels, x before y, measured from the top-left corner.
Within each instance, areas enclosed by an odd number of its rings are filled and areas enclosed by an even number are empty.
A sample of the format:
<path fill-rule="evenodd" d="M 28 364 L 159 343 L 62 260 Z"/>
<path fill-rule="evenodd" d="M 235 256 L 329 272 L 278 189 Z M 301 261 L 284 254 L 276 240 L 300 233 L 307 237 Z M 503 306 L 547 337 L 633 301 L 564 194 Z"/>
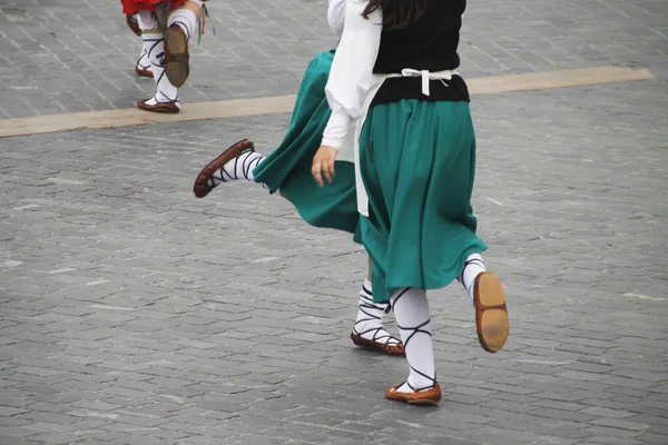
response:
<path fill-rule="evenodd" d="M 354 165 L 336 161 L 334 180 L 323 187 L 318 187 L 311 176 L 313 157 L 332 113 L 325 86 L 333 59 L 334 51 L 325 51 L 311 61 L 283 142 L 253 170 L 253 175 L 255 181 L 265 184 L 272 194 L 279 190 L 306 222 L 356 234 L 354 239 L 358 241 Z"/>

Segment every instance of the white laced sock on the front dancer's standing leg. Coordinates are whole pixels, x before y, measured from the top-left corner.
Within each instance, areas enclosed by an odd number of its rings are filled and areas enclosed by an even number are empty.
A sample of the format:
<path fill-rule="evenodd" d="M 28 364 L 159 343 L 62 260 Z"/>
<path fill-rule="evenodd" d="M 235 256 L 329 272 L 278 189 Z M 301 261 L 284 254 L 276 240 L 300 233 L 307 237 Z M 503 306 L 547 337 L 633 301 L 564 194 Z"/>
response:
<path fill-rule="evenodd" d="M 404 287 L 390 296 L 390 303 L 410 367 L 409 378 L 396 390 L 412 393 L 413 389 L 431 389 L 436 383 L 436 372 L 426 291 L 418 287 Z"/>

